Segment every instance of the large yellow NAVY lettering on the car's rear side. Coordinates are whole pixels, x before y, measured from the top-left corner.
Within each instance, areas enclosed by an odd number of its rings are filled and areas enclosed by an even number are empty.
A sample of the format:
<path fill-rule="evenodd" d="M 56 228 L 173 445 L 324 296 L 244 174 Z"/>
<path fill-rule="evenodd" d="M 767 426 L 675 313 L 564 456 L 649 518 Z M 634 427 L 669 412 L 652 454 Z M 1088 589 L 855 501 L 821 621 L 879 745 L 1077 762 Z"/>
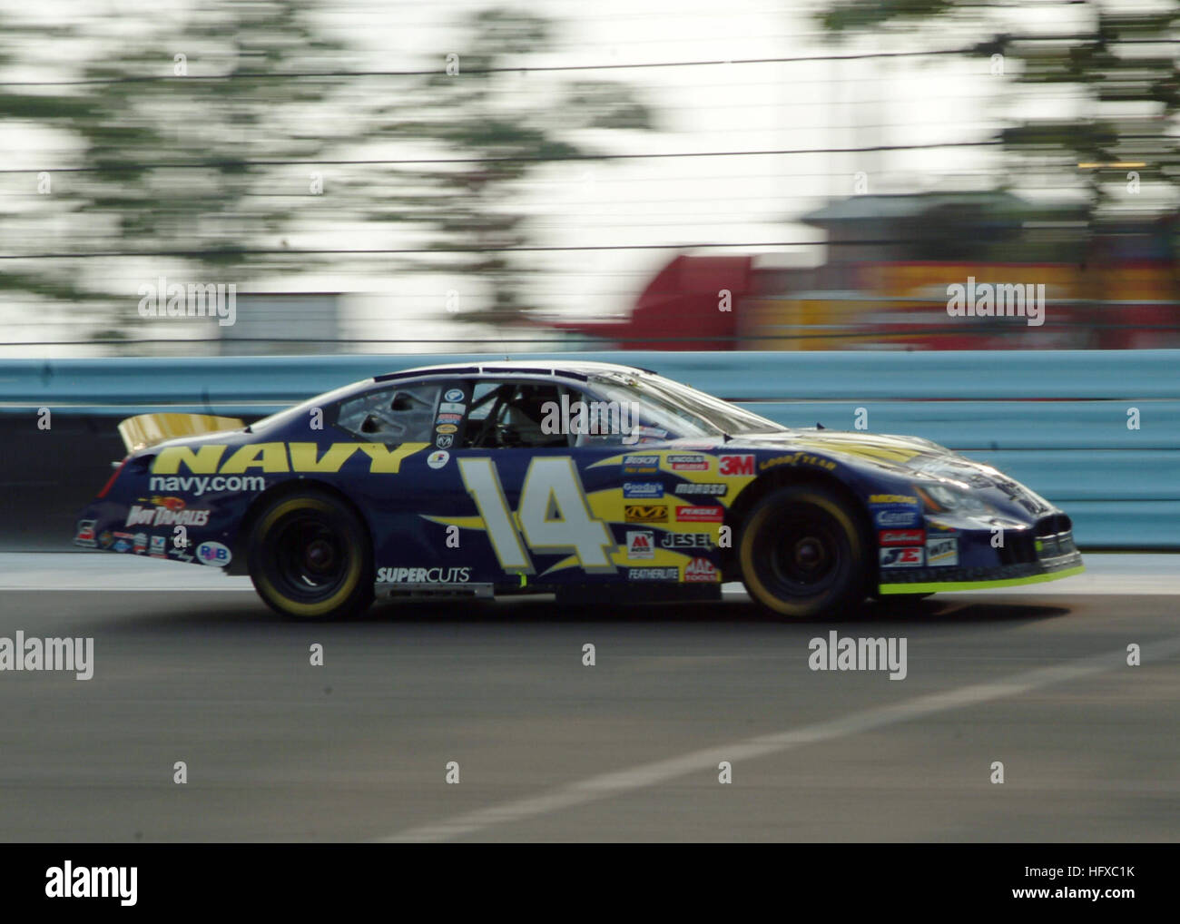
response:
<path fill-rule="evenodd" d="M 401 463 L 428 443 L 404 443 L 386 446 L 384 443 L 333 443 L 321 453 L 315 443 L 254 443 L 229 454 L 229 446 L 208 444 L 168 446 L 152 461 L 152 474 L 178 474 L 186 470 L 194 474 L 245 474 L 257 471 L 268 474 L 283 472 L 339 472 L 358 453 L 369 459 L 369 474 L 396 474 Z"/>

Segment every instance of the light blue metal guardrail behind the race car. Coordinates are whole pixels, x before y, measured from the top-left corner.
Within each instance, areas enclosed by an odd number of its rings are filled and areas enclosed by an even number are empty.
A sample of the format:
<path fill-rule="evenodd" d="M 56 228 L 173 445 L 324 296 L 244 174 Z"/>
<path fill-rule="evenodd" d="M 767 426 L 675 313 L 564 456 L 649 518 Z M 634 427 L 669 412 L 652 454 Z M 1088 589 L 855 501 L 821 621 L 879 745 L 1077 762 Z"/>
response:
<path fill-rule="evenodd" d="M 782 424 L 912 433 L 1063 506 L 1089 548 L 1180 549 L 1180 350 L 530 353 L 656 369 Z M 261 415 L 358 379 L 502 355 L 0 361 L 0 411 Z M 113 427 L 114 421 L 111 421 Z"/>

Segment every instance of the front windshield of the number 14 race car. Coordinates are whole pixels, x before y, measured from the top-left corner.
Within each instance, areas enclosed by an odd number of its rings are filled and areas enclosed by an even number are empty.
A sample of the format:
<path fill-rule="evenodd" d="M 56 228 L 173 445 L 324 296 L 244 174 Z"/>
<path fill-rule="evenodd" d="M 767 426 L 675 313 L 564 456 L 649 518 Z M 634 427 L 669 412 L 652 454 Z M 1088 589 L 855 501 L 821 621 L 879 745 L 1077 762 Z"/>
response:
<path fill-rule="evenodd" d="M 736 405 L 687 385 L 651 373 L 605 373 L 591 379 L 595 391 L 611 401 L 640 405 L 645 426 L 676 437 L 715 437 L 739 433 L 775 433 L 787 430 Z"/>

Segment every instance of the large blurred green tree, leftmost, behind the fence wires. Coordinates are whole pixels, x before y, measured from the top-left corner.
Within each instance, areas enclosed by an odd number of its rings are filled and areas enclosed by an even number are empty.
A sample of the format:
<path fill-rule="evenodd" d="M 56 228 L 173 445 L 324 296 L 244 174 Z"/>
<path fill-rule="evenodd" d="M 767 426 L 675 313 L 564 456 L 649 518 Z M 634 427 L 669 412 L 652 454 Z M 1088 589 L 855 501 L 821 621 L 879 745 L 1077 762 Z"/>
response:
<path fill-rule="evenodd" d="M 326 118 L 346 60 L 317 32 L 319 0 L 205 0 L 84 78 L 86 114 L 72 120 L 92 168 L 84 195 L 126 250 L 185 250 L 218 278 L 306 269 L 282 234 L 317 204 L 310 166 L 340 137 Z M 136 80 L 150 76 L 168 79 Z M 129 78 L 129 79 L 124 79 Z M 245 254 L 247 249 L 268 250 Z"/>

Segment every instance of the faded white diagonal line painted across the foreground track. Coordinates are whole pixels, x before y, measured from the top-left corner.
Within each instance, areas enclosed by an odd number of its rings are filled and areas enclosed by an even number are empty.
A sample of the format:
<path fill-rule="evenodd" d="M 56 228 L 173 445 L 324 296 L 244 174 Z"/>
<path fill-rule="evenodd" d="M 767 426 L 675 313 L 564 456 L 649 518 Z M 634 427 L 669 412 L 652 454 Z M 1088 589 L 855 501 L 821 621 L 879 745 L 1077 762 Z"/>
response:
<path fill-rule="evenodd" d="M 1178 653 L 1180 653 L 1180 636 L 1153 642 L 1143 646 L 1142 663 L 1150 664 L 1159 662 Z M 717 764 L 722 760 L 728 760 L 733 764 L 741 760 L 762 758 L 768 754 L 779 754 L 785 751 L 804 747 L 805 745 L 815 745 L 822 741 L 847 738 L 861 732 L 909 722 L 964 706 L 978 706 L 992 700 L 1018 696 L 1030 690 L 1066 683 L 1094 674 L 1102 674 L 1119 667 L 1127 667 L 1126 650 L 1067 661 L 1053 667 L 1035 668 L 1034 670 L 1014 674 L 991 683 L 976 683 L 970 687 L 948 690 L 946 693 L 917 696 L 894 706 L 881 706 L 801 728 L 748 738 L 732 745 L 694 751 L 689 754 L 655 761 L 654 764 L 643 764 L 630 769 L 589 776 L 539 795 L 502 802 L 500 805 L 467 812 L 432 825 L 406 828 L 388 838 L 381 838 L 380 841 L 453 840 L 454 838 L 486 831 L 496 825 L 546 815 L 597 799 L 607 799 L 612 795 L 635 792 L 648 786 L 669 782 L 681 776 L 701 774 L 703 778 L 708 774 L 715 774 L 717 772 Z"/>

